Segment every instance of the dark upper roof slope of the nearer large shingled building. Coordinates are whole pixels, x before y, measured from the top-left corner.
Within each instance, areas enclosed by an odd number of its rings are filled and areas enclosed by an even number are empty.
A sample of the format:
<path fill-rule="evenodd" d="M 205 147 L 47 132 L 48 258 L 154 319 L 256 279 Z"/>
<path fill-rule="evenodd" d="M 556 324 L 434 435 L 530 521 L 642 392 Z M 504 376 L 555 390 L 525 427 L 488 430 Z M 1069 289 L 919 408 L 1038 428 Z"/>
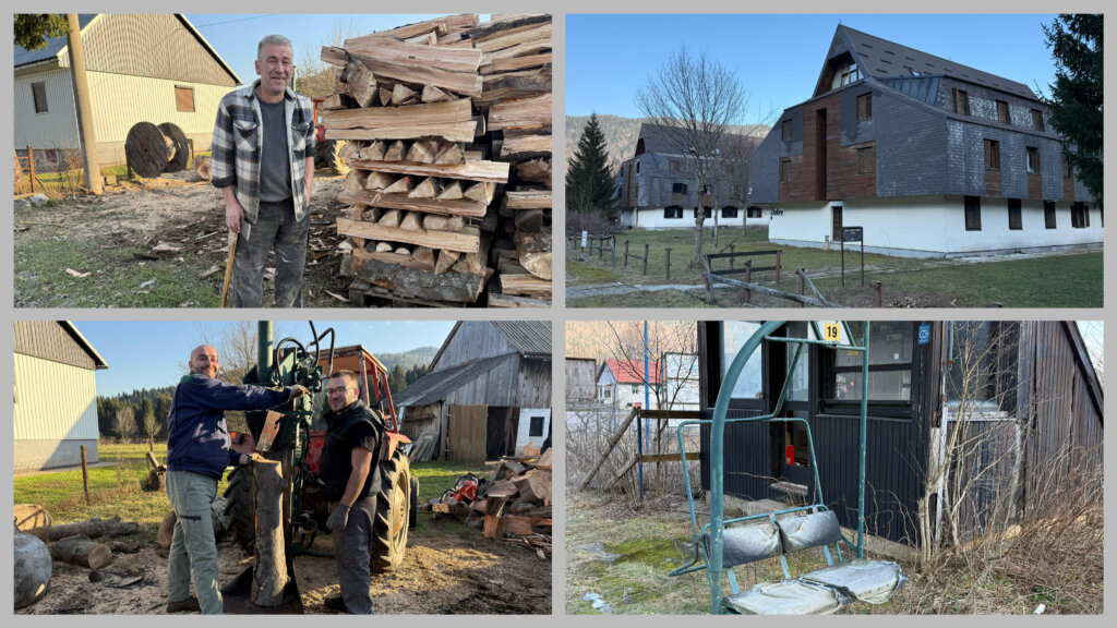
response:
<path fill-rule="evenodd" d="M 861 74 L 873 78 L 903 78 L 910 77 L 911 70 L 919 75 L 939 75 L 983 85 L 993 89 L 1000 89 L 1010 94 L 1015 94 L 1023 98 L 1037 99 L 1035 94 L 1023 83 L 1009 80 L 987 72 L 964 66 L 962 64 L 928 55 L 908 48 L 887 39 L 873 37 L 866 32 L 855 30 L 847 26 L 838 26 L 838 35 L 848 42 L 849 49 L 857 59 Z"/>

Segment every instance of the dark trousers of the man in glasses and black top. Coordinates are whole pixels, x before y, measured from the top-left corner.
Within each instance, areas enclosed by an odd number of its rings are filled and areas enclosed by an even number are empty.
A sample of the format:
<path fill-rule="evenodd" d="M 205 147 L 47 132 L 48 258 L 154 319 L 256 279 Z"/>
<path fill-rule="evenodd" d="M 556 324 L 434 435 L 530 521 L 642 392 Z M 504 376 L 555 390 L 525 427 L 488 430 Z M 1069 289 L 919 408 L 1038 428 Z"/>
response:
<path fill-rule="evenodd" d="M 331 508 L 332 510 L 332 508 Z M 334 532 L 334 559 L 341 580 L 342 601 L 350 615 L 372 615 L 372 523 L 376 521 L 376 496 L 357 499 L 350 508 L 345 529 Z"/>

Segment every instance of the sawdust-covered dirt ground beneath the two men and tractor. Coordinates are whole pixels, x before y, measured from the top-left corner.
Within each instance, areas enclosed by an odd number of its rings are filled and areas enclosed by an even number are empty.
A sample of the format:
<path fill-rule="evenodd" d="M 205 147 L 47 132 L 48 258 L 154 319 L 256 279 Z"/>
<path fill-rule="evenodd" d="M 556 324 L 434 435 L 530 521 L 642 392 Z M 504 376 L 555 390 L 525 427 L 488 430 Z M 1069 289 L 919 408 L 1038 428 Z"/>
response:
<path fill-rule="evenodd" d="M 430 516 L 420 513 L 420 516 Z M 124 537 L 126 539 L 126 537 Z M 314 550 L 328 552 L 328 536 Z M 250 567 L 231 541 L 218 543 L 223 587 Z M 526 615 L 551 612 L 551 565 L 508 541 L 485 539 L 455 522 L 433 522 L 412 537 L 403 565 L 372 578 L 378 615 Z M 46 596 L 20 615 L 165 615 L 166 551 L 157 543 L 133 554 L 117 553 L 99 572 L 55 561 Z M 334 613 L 325 600 L 338 596 L 332 558 L 295 558 L 295 578 L 306 613 Z"/>

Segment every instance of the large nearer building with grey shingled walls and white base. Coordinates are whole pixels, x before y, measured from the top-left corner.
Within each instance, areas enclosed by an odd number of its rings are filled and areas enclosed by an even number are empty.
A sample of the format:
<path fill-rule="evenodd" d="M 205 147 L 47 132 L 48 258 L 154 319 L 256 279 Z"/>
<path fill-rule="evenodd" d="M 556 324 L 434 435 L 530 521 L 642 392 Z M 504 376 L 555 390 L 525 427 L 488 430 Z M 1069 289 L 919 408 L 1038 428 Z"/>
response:
<path fill-rule="evenodd" d="M 1100 247 L 1101 208 L 1024 84 L 839 26 L 750 160 L 775 244 L 944 257 Z"/>

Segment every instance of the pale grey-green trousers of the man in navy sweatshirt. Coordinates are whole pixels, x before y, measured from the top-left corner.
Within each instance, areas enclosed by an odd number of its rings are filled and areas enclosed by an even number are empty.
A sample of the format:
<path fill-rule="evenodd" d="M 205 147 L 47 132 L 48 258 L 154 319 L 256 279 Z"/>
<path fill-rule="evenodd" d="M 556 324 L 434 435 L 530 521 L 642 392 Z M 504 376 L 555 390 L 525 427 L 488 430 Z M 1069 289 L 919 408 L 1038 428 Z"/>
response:
<path fill-rule="evenodd" d="M 190 598 L 190 577 L 202 615 L 221 615 L 225 602 L 217 584 L 217 540 L 210 504 L 217 479 L 191 472 L 166 472 L 166 496 L 174 510 L 174 535 L 168 556 L 166 589 L 170 601 Z"/>

